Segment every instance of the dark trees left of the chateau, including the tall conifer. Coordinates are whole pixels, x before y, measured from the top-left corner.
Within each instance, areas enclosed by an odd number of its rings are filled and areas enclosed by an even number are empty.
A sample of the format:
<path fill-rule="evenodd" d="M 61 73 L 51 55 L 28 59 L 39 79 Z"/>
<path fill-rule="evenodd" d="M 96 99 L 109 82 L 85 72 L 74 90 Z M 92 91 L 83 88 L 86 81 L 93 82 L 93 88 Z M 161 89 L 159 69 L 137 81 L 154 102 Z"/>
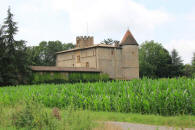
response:
<path fill-rule="evenodd" d="M 74 47 L 72 43 L 42 41 L 38 46 L 27 46 L 25 40 L 15 40 L 18 32 L 10 8 L 0 25 L 0 86 L 28 84 L 31 65 L 54 66 L 55 53 Z"/>

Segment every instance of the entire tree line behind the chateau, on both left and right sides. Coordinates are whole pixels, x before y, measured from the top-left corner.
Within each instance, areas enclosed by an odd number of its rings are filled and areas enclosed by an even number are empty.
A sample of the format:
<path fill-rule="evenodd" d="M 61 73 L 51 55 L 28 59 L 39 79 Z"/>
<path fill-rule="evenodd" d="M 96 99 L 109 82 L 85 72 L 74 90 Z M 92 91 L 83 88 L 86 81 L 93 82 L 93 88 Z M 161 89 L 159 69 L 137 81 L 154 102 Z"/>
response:
<path fill-rule="evenodd" d="M 15 40 L 18 32 L 10 8 L 7 17 L 0 25 L 0 86 L 28 84 L 30 66 L 54 66 L 55 53 L 74 48 L 72 43 L 42 41 L 38 46 L 27 46 L 25 40 Z M 118 45 L 119 41 L 104 39 L 103 44 Z M 171 54 L 154 41 L 146 41 L 139 47 L 140 76 L 150 78 L 195 77 L 195 53 L 191 64 L 184 65 L 177 50 Z"/>

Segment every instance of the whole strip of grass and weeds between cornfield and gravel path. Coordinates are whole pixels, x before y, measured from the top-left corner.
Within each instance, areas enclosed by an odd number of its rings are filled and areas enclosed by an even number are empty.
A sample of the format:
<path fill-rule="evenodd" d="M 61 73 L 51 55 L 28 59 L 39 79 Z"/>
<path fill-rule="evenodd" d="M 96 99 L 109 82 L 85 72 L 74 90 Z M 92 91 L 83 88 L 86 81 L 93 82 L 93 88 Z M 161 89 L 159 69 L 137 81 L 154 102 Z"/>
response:
<path fill-rule="evenodd" d="M 119 121 L 140 124 L 195 128 L 195 116 L 158 116 L 117 112 L 94 112 L 86 110 L 47 108 L 36 102 L 16 105 L 0 104 L 0 130 L 94 130 L 104 128 L 97 121 Z M 101 124 L 100 124 L 101 125 Z M 103 125 L 103 124 L 102 124 Z"/>

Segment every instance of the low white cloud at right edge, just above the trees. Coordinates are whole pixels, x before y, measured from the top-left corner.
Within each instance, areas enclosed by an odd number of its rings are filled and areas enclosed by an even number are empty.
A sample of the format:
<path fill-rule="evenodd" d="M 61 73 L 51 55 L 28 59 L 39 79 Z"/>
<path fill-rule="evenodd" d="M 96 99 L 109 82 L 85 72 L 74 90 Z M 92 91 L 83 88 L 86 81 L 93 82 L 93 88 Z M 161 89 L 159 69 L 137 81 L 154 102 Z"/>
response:
<path fill-rule="evenodd" d="M 184 63 L 190 64 L 193 53 L 195 52 L 195 40 L 172 40 L 169 44 L 165 45 L 165 48 L 171 52 L 176 49 L 181 56 Z"/>

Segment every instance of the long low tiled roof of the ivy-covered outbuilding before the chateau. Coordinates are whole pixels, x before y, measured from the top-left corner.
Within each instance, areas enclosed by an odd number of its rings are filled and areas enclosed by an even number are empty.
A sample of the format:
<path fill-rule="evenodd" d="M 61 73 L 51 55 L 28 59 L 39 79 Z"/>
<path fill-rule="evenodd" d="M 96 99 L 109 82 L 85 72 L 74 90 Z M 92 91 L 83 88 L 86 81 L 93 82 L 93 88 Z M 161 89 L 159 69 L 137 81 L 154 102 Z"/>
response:
<path fill-rule="evenodd" d="M 78 67 L 56 67 L 56 66 L 31 66 L 31 70 L 40 72 L 100 72 L 92 68 L 78 68 Z"/>

